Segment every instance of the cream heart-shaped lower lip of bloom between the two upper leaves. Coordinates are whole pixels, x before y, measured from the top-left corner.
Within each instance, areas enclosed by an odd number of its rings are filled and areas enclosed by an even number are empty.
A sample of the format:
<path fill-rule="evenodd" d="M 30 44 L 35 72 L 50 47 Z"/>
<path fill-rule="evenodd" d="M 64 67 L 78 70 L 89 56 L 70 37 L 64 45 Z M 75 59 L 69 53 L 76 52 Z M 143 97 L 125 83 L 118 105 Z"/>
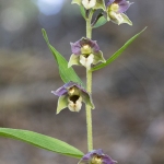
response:
<path fill-rule="evenodd" d="M 87 58 L 84 56 L 80 56 L 80 63 L 84 66 L 86 69 L 91 69 L 91 65 L 93 63 L 94 56 L 91 54 Z"/>

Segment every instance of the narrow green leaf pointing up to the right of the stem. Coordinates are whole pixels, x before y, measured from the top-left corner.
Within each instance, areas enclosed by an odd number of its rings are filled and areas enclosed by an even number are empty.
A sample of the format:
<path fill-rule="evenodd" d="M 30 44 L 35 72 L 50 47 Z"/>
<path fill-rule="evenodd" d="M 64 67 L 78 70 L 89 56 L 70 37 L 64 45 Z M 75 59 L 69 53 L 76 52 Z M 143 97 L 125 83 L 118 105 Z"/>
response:
<path fill-rule="evenodd" d="M 120 49 L 118 49 L 110 58 L 108 58 L 106 60 L 105 63 L 101 63 L 98 66 L 95 66 L 94 68 L 92 68 L 92 71 L 96 71 L 99 70 L 106 66 L 108 66 L 109 63 L 112 63 L 114 60 L 116 60 L 124 51 L 125 49 L 142 33 L 145 31 L 147 27 L 144 27 L 140 33 L 136 34 L 133 37 L 131 37 Z"/>

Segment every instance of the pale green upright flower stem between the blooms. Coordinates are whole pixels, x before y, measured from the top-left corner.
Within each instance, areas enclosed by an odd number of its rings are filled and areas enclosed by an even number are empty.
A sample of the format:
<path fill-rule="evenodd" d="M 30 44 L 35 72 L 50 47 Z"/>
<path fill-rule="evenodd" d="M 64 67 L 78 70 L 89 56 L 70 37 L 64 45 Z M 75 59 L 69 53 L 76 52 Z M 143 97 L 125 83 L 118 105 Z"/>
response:
<path fill-rule="evenodd" d="M 93 10 L 90 11 L 89 17 L 86 19 L 86 37 L 92 38 L 92 26 L 91 20 L 93 15 Z M 86 69 L 86 91 L 92 93 L 92 71 Z M 87 128 L 87 150 L 93 150 L 93 134 L 92 134 L 92 110 L 89 105 L 85 106 L 86 109 L 86 128 Z"/>

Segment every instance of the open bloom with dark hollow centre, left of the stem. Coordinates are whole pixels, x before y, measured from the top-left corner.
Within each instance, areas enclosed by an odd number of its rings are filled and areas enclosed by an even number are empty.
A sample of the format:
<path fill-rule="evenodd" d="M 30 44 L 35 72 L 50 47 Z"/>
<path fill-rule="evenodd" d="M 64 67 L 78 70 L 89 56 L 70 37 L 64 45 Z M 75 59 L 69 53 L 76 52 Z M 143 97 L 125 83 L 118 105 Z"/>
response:
<path fill-rule="evenodd" d="M 66 107 L 71 112 L 79 112 L 82 107 L 82 102 L 94 108 L 90 94 L 78 83 L 69 82 L 57 91 L 51 91 L 51 93 L 59 96 L 57 114 Z"/>

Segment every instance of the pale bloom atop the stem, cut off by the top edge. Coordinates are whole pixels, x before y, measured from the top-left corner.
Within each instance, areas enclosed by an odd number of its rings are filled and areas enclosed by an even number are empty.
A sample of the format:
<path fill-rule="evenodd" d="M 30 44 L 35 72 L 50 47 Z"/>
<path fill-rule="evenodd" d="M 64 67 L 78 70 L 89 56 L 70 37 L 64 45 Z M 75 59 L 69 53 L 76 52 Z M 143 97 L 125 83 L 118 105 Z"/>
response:
<path fill-rule="evenodd" d="M 72 0 L 72 3 L 83 5 L 86 10 L 89 10 L 89 9 L 103 9 L 103 10 L 105 10 L 104 0 Z"/>

